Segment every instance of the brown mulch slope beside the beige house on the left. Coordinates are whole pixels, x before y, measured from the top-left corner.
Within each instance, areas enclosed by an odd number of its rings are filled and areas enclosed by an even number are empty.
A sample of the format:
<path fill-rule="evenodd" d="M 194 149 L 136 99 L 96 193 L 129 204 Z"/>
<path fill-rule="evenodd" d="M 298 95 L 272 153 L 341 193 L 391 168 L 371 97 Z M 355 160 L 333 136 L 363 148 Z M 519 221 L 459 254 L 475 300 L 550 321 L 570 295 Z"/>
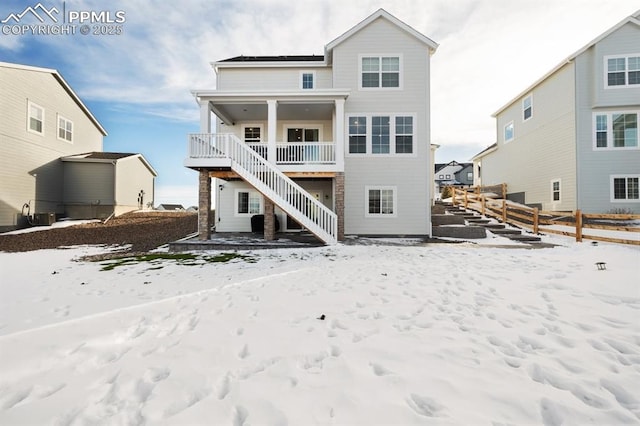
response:
<path fill-rule="evenodd" d="M 120 253 L 147 252 L 198 230 L 198 215 L 186 212 L 127 213 L 36 232 L 0 235 L 0 251 L 24 252 L 78 245 L 124 246 Z"/>

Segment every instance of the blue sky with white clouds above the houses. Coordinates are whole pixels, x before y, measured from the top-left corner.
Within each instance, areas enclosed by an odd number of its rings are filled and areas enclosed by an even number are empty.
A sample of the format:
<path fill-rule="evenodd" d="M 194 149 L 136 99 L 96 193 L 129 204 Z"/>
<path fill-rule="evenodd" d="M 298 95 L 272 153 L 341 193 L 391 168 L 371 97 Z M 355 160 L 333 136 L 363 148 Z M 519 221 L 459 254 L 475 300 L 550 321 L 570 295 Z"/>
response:
<path fill-rule="evenodd" d="M 120 35 L 0 34 L 0 61 L 57 69 L 109 133 L 106 151 L 140 152 L 158 171 L 156 204 L 197 204 L 182 166 L 199 131 L 192 89 L 215 88 L 210 62 L 322 54 L 382 7 L 440 44 L 432 57 L 437 162 L 495 141 L 491 114 L 638 8 L 635 0 L 41 0 L 66 11 L 124 12 Z M 0 21 L 38 0 L 2 0 Z M 32 17 L 24 22 L 38 23 Z M 78 25 L 79 27 L 79 25 Z"/>

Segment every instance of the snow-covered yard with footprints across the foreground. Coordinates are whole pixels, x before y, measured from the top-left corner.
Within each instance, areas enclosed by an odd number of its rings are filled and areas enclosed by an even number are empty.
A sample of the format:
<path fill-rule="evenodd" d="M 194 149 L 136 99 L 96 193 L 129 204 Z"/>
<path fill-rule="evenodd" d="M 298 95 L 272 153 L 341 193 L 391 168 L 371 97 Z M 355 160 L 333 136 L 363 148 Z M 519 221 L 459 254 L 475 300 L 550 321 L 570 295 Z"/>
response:
<path fill-rule="evenodd" d="M 0 424 L 640 424 L 640 249 L 553 241 L 0 253 Z"/>

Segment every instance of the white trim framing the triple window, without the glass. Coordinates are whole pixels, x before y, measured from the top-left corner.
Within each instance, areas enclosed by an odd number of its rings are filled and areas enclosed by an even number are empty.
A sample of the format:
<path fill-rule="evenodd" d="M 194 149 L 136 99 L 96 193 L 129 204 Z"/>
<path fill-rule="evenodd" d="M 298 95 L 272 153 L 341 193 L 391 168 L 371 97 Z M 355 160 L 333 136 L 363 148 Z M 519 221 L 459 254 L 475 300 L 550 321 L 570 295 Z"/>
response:
<path fill-rule="evenodd" d="M 367 133 L 366 133 L 366 144 L 367 150 L 365 153 L 351 153 L 349 152 L 349 119 L 351 117 L 365 117 L 367 119 Z M 372 138 L 372 128 L 373 128 L 373 120 L 372 117 L 389 117 L 391 120 L 390 123 L 390 132 L 389 132 L 389 153 L 388 154 L 373 154 L 373 138 Z M 413 152 L 411 153 L 399 153 L 396 154 L 396 117 L 412 117 L 413 118 Z M 413 112 L 367 112 L 367 113 L 350 113 L 345 117 L 345 135 L 344 135 L 344 150 L 345 155 L 349 157 L 375 157 L 375 158 L 385 158 L 385 157 L 393 157 L 393 158 L 415 158 L 418 156 L 418 121 L 417 114 Z"/>

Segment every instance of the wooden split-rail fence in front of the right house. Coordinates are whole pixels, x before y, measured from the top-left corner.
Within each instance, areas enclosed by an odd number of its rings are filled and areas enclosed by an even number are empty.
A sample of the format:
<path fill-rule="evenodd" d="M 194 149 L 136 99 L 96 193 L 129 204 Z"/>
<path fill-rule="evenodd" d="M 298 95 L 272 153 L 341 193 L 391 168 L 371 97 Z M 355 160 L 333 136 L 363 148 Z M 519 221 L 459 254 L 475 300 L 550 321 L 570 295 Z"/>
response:
<path fill-rule="evenodd" d="M 640 220 L 634 214 L 586 214 L 575 212 L 553 212 L 527 207 L 506 199 L 506 184 L 490 187 L 451 188 L 453 205 L 462 205 L 465 209 L 475 210 L 487 217 L 494 217 L 503 223 L 509 223 L 527 229 L 534 234 L 548 233 L 612 243 L 640 245 L 640 240 L 613 238 L 609 236 L 589 235 L 585 229 L 640 233 L 640 225 L 630 223 Z M 561 226 L 554 229 L 548 226 Z M 635 225 L 635 226 L 634 226 Z M 568 228 L 568 229 L 567 229 Z M 589 231 L 587 231 L 589 232 Z"/>

